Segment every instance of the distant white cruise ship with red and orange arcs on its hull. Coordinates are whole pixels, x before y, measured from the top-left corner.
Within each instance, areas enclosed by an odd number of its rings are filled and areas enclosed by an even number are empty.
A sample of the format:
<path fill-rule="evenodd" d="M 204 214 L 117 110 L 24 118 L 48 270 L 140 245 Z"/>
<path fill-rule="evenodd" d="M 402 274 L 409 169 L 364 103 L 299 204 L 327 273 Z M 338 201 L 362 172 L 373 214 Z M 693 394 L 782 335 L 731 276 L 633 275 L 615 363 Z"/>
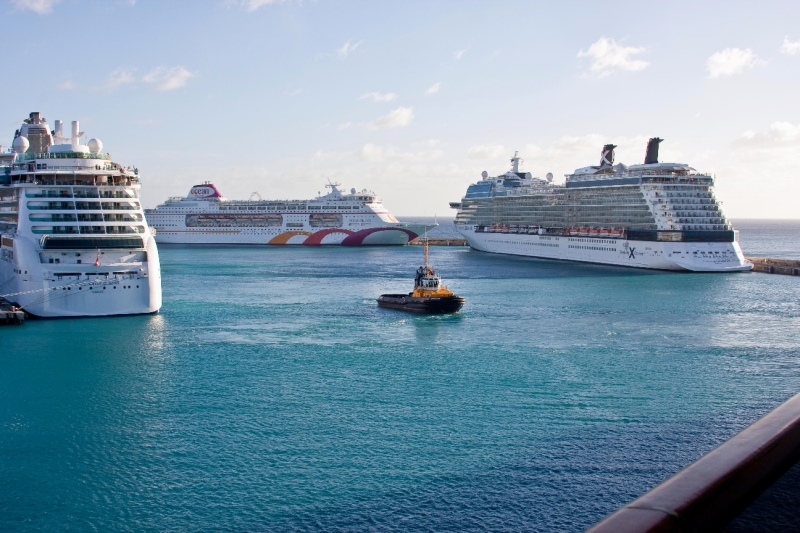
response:
<path fill-rule="evenodd" d="M 398 222 L 372 191 L 329 183 L 313 200 L 228 200 L 210 182 L 146 209 L 156 240 L 170 244 L 404 245 L 433 226 Z"/>

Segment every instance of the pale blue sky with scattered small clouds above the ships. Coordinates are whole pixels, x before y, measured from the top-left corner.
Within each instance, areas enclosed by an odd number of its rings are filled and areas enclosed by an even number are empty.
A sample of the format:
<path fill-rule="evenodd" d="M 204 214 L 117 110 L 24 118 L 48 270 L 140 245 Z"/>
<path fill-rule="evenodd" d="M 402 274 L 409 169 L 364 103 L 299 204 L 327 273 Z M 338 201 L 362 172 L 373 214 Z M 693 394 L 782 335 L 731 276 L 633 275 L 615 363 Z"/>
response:
<path fill-rule="evenodd" d="M 483 170 L 660 160 L 800 218 L 800 2 L 0 0 L 0 145 L 31 111 L 136 165 L 145 207 L 328 180 L 453 216 Z M 67 126 L 68 128 L 68 126 Z M 5 149 L 5 148 L 4 148 Z"/>

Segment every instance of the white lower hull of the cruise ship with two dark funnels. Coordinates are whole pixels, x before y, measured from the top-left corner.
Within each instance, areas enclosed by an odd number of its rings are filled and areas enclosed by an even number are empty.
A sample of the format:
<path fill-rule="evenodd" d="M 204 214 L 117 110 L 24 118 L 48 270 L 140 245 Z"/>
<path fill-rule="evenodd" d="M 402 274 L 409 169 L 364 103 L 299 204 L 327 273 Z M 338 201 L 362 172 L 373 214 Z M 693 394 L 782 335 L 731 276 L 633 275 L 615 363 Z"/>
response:
<path fill-rule="evenodd" d="M 477 232 L 456 227 L 475 250 L 654 270 L 752 270 L 738 242 L 657 242 L 593 237 Z"/>

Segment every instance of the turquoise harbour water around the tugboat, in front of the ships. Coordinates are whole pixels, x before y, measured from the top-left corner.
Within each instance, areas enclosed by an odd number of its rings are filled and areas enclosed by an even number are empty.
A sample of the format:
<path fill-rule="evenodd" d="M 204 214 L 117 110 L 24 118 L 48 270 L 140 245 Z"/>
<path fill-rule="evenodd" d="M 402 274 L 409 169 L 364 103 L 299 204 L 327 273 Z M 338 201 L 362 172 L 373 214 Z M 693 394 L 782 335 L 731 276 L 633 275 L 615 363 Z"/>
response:
<path fill-rule="evenodd" d="M 0 328 L 0 530 L 581 531 L 800 390 L 800 282 L 162 247 L 155 316 Z"/>

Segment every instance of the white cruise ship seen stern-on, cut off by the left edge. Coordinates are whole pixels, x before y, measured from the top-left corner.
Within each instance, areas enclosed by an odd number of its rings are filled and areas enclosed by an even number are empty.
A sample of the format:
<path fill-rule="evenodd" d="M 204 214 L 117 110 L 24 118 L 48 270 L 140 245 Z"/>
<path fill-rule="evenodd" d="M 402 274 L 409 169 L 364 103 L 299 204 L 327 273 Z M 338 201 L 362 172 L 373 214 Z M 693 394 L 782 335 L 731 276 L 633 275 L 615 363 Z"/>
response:
<path fill-rule="evenodd" d="M 0 153 L 0 297 L 40 317 L 155 313 L 158 249 L 123 167 L 31 113 Z"/>

